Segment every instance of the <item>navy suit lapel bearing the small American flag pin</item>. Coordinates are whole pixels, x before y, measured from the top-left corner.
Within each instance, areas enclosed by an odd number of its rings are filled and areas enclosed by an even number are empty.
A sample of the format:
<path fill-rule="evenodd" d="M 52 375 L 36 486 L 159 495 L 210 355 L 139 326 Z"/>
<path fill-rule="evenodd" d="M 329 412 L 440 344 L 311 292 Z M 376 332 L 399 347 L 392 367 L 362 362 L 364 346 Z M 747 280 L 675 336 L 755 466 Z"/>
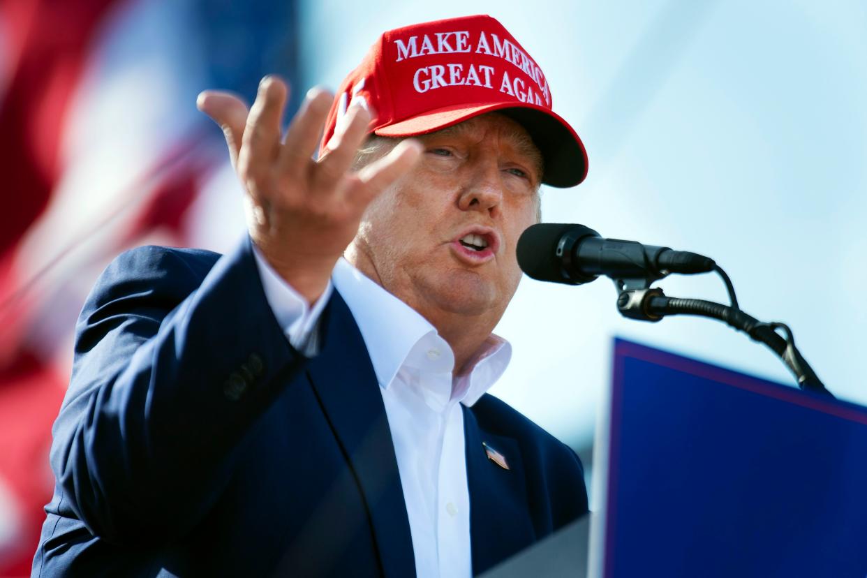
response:
<path fill-rule="evenodd" d="M 524 463 L 518 442 L 479 427 L 473 410 L 464 410 L 466 483 L 470 490 L 470 537 L 473 575 L 505 560 L 536 539 L 527 511 Z M 505 470 L 488 458 L 483 442 L 499 452 Z"/>

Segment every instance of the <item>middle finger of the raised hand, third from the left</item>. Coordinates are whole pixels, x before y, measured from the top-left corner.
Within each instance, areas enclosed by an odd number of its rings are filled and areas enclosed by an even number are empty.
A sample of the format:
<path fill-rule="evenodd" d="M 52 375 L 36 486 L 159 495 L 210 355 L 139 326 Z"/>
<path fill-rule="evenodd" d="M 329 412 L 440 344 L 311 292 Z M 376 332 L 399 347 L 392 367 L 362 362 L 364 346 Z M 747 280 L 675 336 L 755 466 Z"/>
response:
<path fill-rule="evenodd" d="M 319 147 L 319 135 L 331 107 L 332 95 L 323 88 L 310 88 L 301 109 L 286 132 L 280 164 L 284 171 L 300 174 L 310 165 Z"/>

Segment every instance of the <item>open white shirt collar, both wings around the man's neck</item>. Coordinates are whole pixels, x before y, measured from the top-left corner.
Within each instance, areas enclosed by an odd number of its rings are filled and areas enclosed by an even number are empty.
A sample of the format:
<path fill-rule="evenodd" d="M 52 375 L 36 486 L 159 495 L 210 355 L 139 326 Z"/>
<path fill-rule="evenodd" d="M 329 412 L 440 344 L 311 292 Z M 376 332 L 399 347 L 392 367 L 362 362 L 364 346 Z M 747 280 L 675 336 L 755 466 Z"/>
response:
<path fill-rule="evenodd" d="M 436 328 L 414 308 L 364 276 L 341 258 L 332 273 L 335 288 L 346 302 L 368 347 L 376 379 L 388 388 L 401 367 L 415 365 L 419 347 L 438 341 L 439 354 L 427 356 L 437 372 L 452 373 L 454 354 Z M 427 352 L 426 352 L 427 353 Z M 425 354 L 425 353 L 422 353 Z M 453 399 L 472 406 L 505 372 L 512 346 L 491 334 L 470 361 L 470 371 L 453 377 Z"/>

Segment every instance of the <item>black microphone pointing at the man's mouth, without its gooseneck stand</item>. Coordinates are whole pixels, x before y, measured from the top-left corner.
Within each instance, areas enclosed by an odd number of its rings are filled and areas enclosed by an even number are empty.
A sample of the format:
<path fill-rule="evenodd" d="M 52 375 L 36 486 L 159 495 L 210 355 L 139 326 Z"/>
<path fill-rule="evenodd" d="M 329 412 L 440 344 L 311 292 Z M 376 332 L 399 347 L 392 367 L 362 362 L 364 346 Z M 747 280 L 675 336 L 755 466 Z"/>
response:
<path fill-rule="evenodd" d="M 716 263 L 689 251 L 604 239 L 583 224 L 531 225 L 518 239 L 518 265 L 539 281 L 580 285 L 600 275 L 616 281 L 707 273 Z"/>

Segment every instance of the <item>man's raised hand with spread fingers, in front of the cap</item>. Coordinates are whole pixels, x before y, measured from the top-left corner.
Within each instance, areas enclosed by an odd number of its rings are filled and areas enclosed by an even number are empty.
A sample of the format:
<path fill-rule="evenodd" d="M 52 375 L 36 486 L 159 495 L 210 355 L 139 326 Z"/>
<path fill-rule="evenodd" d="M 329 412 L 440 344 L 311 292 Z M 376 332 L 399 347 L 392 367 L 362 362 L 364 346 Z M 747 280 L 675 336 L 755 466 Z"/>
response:
<path fill-rule="evenodd" d="M 198 106 L 223 128 L 247 193 L 253 243 L 292 287 L 315 302 L 355 237 L 370 201 L 414 166 L 421 147 L 403 140 L 381 159 L 353 172 L 370 114 L 350 106 L 329 142 L 329 153 L 314 160 L 332 96 L 311 89 L 281 141 L 287 94 L 283 81 L 266 76 L 249 113 L 236 96 L 214 91 L 199 94 Z"/>

